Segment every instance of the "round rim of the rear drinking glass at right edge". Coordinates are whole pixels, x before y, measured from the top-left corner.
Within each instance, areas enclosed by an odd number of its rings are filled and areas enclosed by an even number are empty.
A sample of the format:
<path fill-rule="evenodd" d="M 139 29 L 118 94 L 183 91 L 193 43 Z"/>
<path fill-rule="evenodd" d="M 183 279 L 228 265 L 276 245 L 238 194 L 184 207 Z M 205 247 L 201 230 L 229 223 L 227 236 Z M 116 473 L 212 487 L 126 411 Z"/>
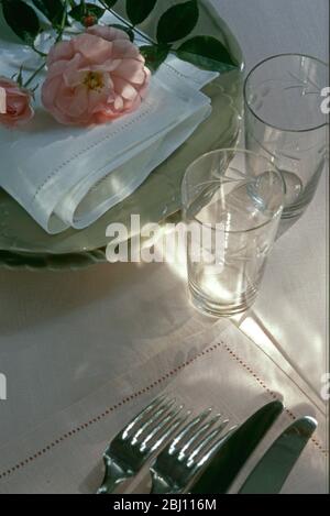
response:
<path fill-rule="evenodd" d="M 308 55 L 308 54 L 299 54 L 299 53 L 295 53 L 295 52 L 289 52 L 289 53 L 284 53 L 284 54 L 274 54 L 270 57 L 266 57 L 265 59 L 258 62 L 255 66 L 253 66 L 253 68 L 249 72 L 245 80 L 244 80 L 244 88 L 243 88 L 243 96 L 244 96 L 244 105 L 248 107 L 249 111 L 251 111 L 251 113 L 253 114 L 253 117 L 255 117 L 260 122 L 262 122 L 263 124 L 267 125 L 268 128 L 272 128 L 272 129 L 276 129 L 277 131 L 282 131 L 282 132 L 288 132 L 288 133 L 307 133 L 307 132 L 311 132 L 311 131 L 317 131 L 319 129 L 322 129 L 322 128 L 326 128 L 329 122 L 327 122 L 327 120 L 321 123 L 321 124 L 318 124 L 318 125 L 311 125 L 310 128 L 306 128 L 306 129 L 284 129 L 284 128 L 278 128 L 277 125 L 274 125 L 272 124 L 271 122 L 266 122 L 265 120 L 263 120 L 258 114 L 256 114 L 256 112 L 252 109 L 250 102 L 248 101 L 248 95 L 246 95 L 246 89 L 248 89 L 248 83 L 249 83 L 249 79 L 251 78 L 252 74 L 257 69 L 260 68 L 262 65 L 264 65 L 265 63 L 268 63 L 270 61 L 273 61 L 273 59 L 276 59 L 278 57 L 306 57 L 307 59 L 311 59 L 311 61 L 315 61 L 317 63 L 319 63 L 320 65 L 323 65 L 326 66 L 326 68 L 328 68 L 328 72 L 329 72 L 329 65 L 320 59 L 319 57 L 315 57 L 312 55 Z M 327 85 L 328 86 L 328 85 Z"/>

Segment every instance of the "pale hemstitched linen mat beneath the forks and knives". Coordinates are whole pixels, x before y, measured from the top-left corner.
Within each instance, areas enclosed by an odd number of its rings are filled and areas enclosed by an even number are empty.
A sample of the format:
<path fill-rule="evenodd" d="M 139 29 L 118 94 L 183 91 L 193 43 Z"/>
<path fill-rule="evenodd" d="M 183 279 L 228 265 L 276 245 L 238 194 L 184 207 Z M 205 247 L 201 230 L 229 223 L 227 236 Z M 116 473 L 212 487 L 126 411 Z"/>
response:
<path fill-rule="evenodd" d="M 184 402 L 195 414 L 211 406 L 231 424 L 242 422 L 260 406 L 284 393 L 286 411 L 246 463 L 232 492 L 286 426 L 299 416 L 310 415 L 319 421 L 318 432 L 283 492 L 326 493 L 326 421 L 322 414 L 238 329 L 233 326 L 226 329 L 221 323 L 216 328 L 217 336 L 206 331 L 208 344 L 199 352 L 204 342 L 200 332 L 198 337 L 190 336 L 176 342 L 161 339 L 167 341 L 167 349 L 146 359 L 142 366 L 106 382 L 89 396 L 45 419 L 32 432 L 25 431 L 20 440 L 2 446 L 1 492 L 95 493 L 102 480 L 101 457 L 109 439 L 154 396 L 166 389 L 178 404 Z M 147 470 L 141 476 L 147 480 Z M 143 484 L 147 486 L 146 482 Z M 138 485 L 135 492 L 146 492 L 141 488 L 140 479 Z M 131 485 L 128 488 L 132 492 Z"/>

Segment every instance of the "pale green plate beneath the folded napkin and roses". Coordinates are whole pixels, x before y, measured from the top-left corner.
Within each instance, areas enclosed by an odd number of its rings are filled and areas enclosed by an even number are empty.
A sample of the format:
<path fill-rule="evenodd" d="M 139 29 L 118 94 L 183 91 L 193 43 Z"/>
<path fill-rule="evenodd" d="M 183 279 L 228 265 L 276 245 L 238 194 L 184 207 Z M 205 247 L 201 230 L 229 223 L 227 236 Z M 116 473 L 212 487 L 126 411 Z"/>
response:
<path fill-rule="evenodd" d="M 168 7 L 167 1 L 166 4 Z M 121 13 L 124 14 L 122 10 Z M 155 17 L 158 14 L 155 13 Z M 152 34 L 154 25 L 151 19 L 143 30 Z M 242 63 L 243 69 L 242 52 L 234 36 L 207 0 L 201 2 L 197 32 L 221 36 Z M 105 262 L 108 244 L 106 229 L 110 223 L 120 222 L 130 228 L 132 213 L 139 213 L 141 224 L 144 224 L 160 222 L 178 211 L 180 183 L 187 166 L 205 152 L 233 146 L 238 140 L 242 112 L 242 69 L 224 74 L 204 89 L 212 101 L 210 118 L 133 195 L 85 230 L 67 230 L 50 235 L 0 189 L 0 266 L 62 270 Z"/>

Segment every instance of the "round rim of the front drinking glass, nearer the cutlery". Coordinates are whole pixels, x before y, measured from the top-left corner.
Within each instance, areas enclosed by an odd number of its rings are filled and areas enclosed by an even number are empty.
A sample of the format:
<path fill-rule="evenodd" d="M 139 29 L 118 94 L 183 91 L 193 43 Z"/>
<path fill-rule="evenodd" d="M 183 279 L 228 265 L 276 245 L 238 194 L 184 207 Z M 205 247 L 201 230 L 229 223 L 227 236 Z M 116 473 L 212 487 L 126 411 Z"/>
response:
<path fill-rule="evenodd" d="M 270 218 L 270 220 L 266 220 L 265 222 L 262 222 L 261 224 L 258 226 L 255 226 L 254 228 L 250 228 L 250 229 L 241 229 L 241 230 L 222 230 L 223 233 L 231 233 L 231 234 L 239 234 L 239 233 L 249 233 L 249 232 L 252 232 L 252 231 L 256 231 L 272 222 L 274 222 L 274 220 L 276 220 L 278 217 L 280 217 L 282 215 L 282 211 L 284 209 L 284 197 L 285 197 L 285 182 L 284 182 L 284 178 L 283 178 L 283 175 L 279 171 L 279 168 L 277 168 L 277 166 L 272 163 L 267 157 L 263 156 L 262 154 L 257 154 L 253 151 L 248 151 L 246 149 L 240 149 L 240 147 L 228 147 L 228 149 L 216 149 L 215 151 L 209 151 L 209 152 L 206 152 L 204 154 L 201 154 L 201 156 L 197 157 L 193 163 L 190 163 L 190 165 L 188 166 L 188 168 L 186 169 L 185 172 L 185 175 L 184 175 L 184 178 L 183 178 L 183 184 L 182 184 L 182 189 L 183 189 L 183 185 L 184 185 L 184 182 L 185 182 L 185 178 L 187 176 L 187 174 L 189 174 L 190 169 L 197 165 L 200 161 L 205 160 L 206 157 L 208 156 L 211 156 L 213 154 L 220 154 L 220 153 L 224 153 L 224 152 L 233 152 L 233 153 L 240 153 L 240 154 L 251 154 L 257 158 L 261 158 L 261 160 L 264 160 L 266 163 L 268 163 L 271 165 L 271 169 L 272 172 L 275 172 L 278 177 L 280 178 L 282 180 L 282 185 L 283 185 L 283 196 L 282 196 L 282 202 L 280 205 L 278 206 L 278 209 L 276 211 L 274 211 L 273 216 Z M 234 156 L 233 156 L 234 157 Z M 235 180 L 235 179 L 233 179 Z M 246 179 L 237 179 L 238 182 L 246 182 Z M 215 179 L 215 180 L 210 180 L 210 182 L 207 182 L 207 183 L 219 183 L 221 184 L 221 179 Z M 200 183 L 202 184 L 202 183 Z M 185 206 L 183 206 L 184 209 L 185 209 Z M 199 220 L 197 217 L 191 217 L 191 220 L 195 220 L 199 226 L 201 227 L 205 227 L 205 228 L 209 228 L 211 231 L 218 231 L 217 228 L 215 227 L 215 224 L 212 223 L 209 223 L 209 222 L 202 222 L 201 220 Z"/>

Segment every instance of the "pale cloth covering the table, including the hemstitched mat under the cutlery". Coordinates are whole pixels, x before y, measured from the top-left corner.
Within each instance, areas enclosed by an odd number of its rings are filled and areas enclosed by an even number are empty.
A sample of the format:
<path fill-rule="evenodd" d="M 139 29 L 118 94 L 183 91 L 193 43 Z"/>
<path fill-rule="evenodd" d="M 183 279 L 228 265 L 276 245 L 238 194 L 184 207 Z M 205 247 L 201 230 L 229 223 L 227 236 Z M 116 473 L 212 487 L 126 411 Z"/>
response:
<path fill-rule="evenodd" d="M 250 64 L 274 52 L 324 57 L 324 37 L 318 48 L 314 34 L 327 33 L 326 0 L 215 3 Z M 0 373 L 8 381 L 8 400 L 0 400 L 0 493 L 94 492 L 106 442 L 173 381 L 167 388 L 187 405 L 224 406 L 235 420 L 270 392 L 283 394 L 294 415 L 316 415 L 316 442 L 285 492 L 323 492 L 327 182 L 324 175 L 308 211 L 277 241 L 253 310 L 235 321 L 215 323 L 196 312 L 182 271 L 164 264 L 0 270 Z"/>

